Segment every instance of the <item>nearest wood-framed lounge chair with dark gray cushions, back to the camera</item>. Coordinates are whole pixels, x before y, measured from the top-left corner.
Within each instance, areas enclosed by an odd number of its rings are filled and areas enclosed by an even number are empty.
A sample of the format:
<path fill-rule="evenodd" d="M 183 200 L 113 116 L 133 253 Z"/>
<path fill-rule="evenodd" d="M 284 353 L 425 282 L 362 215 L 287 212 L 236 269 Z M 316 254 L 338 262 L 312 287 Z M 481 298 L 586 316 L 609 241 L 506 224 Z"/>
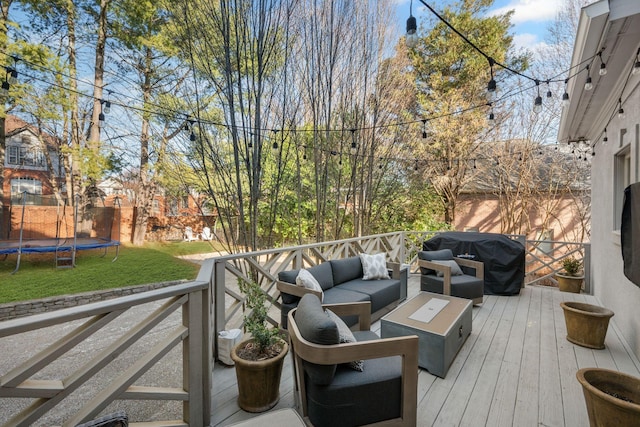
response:
<path fill-rule="evenodd" d="M 418 337 L 380 339 L 369 330 L 369 304 L 322 306 L 307 294 L 288 314 L 296 403 L 315 427 L 416 425 Z M 325 308 L 337 316 L 359 316 L 355 342 L 341 342 L 344 330 L 339 332 Z M 359 360 L 362 372 L 349 366 Z"/>

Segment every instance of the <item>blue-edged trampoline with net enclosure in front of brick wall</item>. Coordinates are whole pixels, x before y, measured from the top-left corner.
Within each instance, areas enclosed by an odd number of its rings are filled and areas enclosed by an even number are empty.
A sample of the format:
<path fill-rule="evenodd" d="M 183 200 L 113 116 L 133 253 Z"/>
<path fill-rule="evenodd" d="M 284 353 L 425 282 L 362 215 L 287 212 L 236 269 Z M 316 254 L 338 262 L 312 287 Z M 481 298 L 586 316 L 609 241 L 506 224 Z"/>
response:
<path fill-rule="evenodd" d="M 104 249 L 104 257 L 109 247 L 115 247 L 116 253 L 112 262 L 118 259 L 120 241 L 111 238 L 114 223 L 116 235 L 119 237 L 120 234 L 120 221 L 116 220 L 116 210 L 119 212 L 120 207 L 118 198 L 111 207 L 104 206 L 103 201 L 102 206 L 85 209 L 79 216 L 77 203 L 70 208 L 64 204 L 47 203 L 45 196 L 39 196 L 40 203 L 27 204 L 27 200 L 32 200 L 28 196 L 28 193 L 23 194 L 22 203 L 17 208 L 12 204 L 13 230 L 9 230 L 9 238 L 0 239 L 0 256 L 6 259 L 8 255 L 17 254 L 13 273 L 20 268 L 22 254 L 55 253 L 56 267 L 59 268 L 75 267 L 76 252 L 82 250 Z M 47 208 L 49 211 L 46 211 Z M 29 218 L 39 218 L 40 223 L 30 221 Z M 55 237 L 47 237 L 47 234 L 53 235 L 54 226 Z M 61 237 L 62 234 L 65 236 Z M 99 237 L 100 234 L 108 237 Z"/>

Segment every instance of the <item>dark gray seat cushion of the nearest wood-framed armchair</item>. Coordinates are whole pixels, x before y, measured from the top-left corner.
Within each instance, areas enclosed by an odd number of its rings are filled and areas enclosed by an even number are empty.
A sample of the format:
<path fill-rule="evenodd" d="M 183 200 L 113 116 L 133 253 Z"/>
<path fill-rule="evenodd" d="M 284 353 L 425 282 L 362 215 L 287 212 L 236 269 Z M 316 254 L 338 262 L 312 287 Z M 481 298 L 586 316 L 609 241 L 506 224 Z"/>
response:
<path fill-rule="evenodd" d="M 378 339 L 370 331 L 354 332 L 358 341 Z M 316 427 L 359 426 L 401 415 L 402 359 L 367 359 L 364 371 L 340 365 L 331 384 L 307 383 L 309 419 Z"/>

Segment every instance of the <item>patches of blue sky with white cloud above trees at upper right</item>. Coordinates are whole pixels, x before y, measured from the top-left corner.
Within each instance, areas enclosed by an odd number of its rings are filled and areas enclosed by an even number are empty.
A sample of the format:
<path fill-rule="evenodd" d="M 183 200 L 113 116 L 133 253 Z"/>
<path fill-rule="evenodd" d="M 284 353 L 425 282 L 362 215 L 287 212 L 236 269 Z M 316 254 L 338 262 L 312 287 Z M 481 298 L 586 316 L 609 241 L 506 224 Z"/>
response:
<path fill-rule="evenodd" d="M 409 17 L 410 0 L 394 0 L 397 3 L 398 20 L 402 25 L 401 32 Z M 425 0 L 436 11 L 443 9 L 443 0 Z M 535 48 L 544 44 L 547 25 L 552 22 L 562 5 L 561 0 L 495 0 L 491 12 L 504 13 L 514 10 L 511 22 L 514 24 L 512 33 L 518 47 Z M 426 19 L 431 12 L 419 0 L 413 0 L 413 16 Z"/>

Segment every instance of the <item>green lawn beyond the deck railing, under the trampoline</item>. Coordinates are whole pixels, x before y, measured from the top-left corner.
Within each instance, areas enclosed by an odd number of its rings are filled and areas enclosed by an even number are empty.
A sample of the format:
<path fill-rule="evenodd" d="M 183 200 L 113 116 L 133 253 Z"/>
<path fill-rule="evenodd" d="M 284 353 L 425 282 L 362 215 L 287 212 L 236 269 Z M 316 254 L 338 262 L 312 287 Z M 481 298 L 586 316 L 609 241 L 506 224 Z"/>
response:
<path fill-rule="evenodd" d="M 115 262 L 115 248 L 80 251 L 76 268 L 55 268 L 54 254 L 23 254 L 20 269 L 16 255 L 0 258 L 0 303 L 26 301 L 55 295 L 76 294 L 171 280 L 192 280 L 199 265 L 177 255 L 212 252 L 208 242 L 148 243 L 143 247 L 121 246 Z"/>

